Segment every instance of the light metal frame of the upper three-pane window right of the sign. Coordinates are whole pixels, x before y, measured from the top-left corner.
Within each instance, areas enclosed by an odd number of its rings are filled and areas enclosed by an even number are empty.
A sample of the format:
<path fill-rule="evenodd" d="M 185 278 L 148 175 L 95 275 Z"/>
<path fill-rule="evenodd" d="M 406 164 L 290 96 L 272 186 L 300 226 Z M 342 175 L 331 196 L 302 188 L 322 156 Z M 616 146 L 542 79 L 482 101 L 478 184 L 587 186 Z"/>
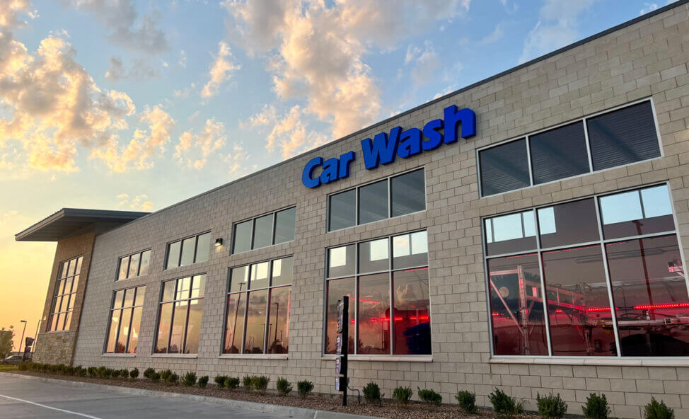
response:
<path fill-rule="evenodd" d="M 629 108 L 630 106 L 633 106 L 633 105 L 639 105 L 640 103 L 644 103 L 644 102 L 649 102 L 650 105 L 651 105 L 651 111 L 652 111 L 652 114 L 653 114 L 653 122 L 654 122 L 654 127 L 655 127 L 655 130 L 656 130 L 656 137 L 657 137 L 657 139 L 658 139 L 658 149 L 659 149 L 659 151 L 660 151 L 660 155 L 657 156 L 657 157 L 654 157 L 654 158 L 652 158 L 652 159 L 633 161 L 632 163 L 626 163 L 626 164 L 623 164 L 623 165 L 621 165 L 621 166 L 613 166 L 613 167 L 604 168 L 604 169 L 600 169 L 600 170 L 594 171 L 594 161 L 593 161 L 593 157 L 591 156 L 591 142 L 589 142 L 589 127 L 588 127 L 588 124 L 587 124 L 587 120 L 589 120 L 590 118 L 594 118 L 594 117 L 600 116 L 600 115 L 605 115 L 606 113 L 614 112 L 615 110 L 620 110 L 620 109 L 624 109 L 624 108 Z M 586 154 L 587 154 L 587 156 L 589 157 L 589 171 L 586 172 L 586 173 L 581 173 L 581 174 L 579 174 L 579 175 L 568 176 L 567 178 L 561 178 L 561 179 L 556 179 L 556 180 L 550 180 L 550 181 L 544 182 L 544 183 L 538 183 L 538 184 L 533 183 L 533 167 L 532 167 L 532 162 L 531 162 L 531 143 L 529 142 L 529 137 L 534 136 L 534 135 L 538 135 L 538 134 L 542 134 L 543 132 L 548 132 L 548 131 L 551 131 L 551 130 L 556 130 L 557 128 L 564 127 L 565 125 L 570 125 L 570 124 L 573 124 L 573 123 L 575 123 L 575 122 L 580 122 L 580 123 L 584 124 L 584 139 L 585 139 L 585 144 L 586 144 Z M 499 147 L 499 146 L 502 146 L 502 145 L 504 145 L 504 144 L 508 144 L 508 143 L 510 143 L 510 142 L 516 142 L 516 141 L 519 141 L 520 139 L 525 139 L 525 140 L 526 140 L 526 143 L 525 143 L 525 144 L 526 144 L 526 157 L 527 157 L 527 160 L 528 160 L 528 178 L 529 178 L 529 185 L 528 185 L 528 186 L 524 186 L 523 188 L 517 188 L 517 189 L 512 189 L 512 190 L 506 190 L 505 192 L 494 193 L 494 194 L 491 194 L 491 195 L 485 195 L 485 194 L 483 193 L 483 185 L 482 185 L 482 183 L 481 183 L 481 161 L 480 161 L 480 152 L 481 152 L 481 151 L 485 151 L 485 150 L 487 150 L 487 149 L 492 149 L 493 147 Z M 552 125 L 552 126 L 550 126 L 550 127 L 545 127 L 545 128 L 543 128 L 543 129 L 541 129 L 541 130 L 538 130 L 538 131 L 528 132 L 527 134 L 521 134 L 521 135 L 519 135 L 519 136 L 517 136 L 517 137 L 512 137 L 512 138 L 509 138 L 509 139 L 505 139 L 504 141 L 497 142 L 497 143 L 495 143 L 495 144 L 490 144 L 490 145 L 487 145 L 487 146 L 485 146 L 485 147 L 477 148 L 477 149 L 475 150 L 475 159 L 476 159 L 475 161 L 476 161 L 476 177 L 477 177 L 477 181 L 478 181 L 478 197 L 479 197 L 479 199 L 482 199 L 482 198 L 487 198 L 487 197 L 499 196 L 499 195 L 503 195 L 503 194 L 506 194 L 506 193 L 512 193 L 512 192 L 515 192 L 515 191 L 517 191 L 517 190 L 524 190 L 524 189 L 527 189 L 527 188 L 533 188 L 533 187 L 535 187 L 535 186 L 550 185 L 551 183 L 562 182 L 563 180 L 581 178 L 582 176 L 588 176 L 588 175 L 591 175 L 591 174 L 594 174 L 594 173 L 601 173 L 601 172 L 608 171 L 608 170 L 614 170 L 614 169 L 616 169 L 616 168 L 622 168 L 622 167 L 632 166 L 633 164 L 639 164 L 639 163 L 644 163 L 644 162 L 647 162 L 647 161 L 654 161 L 654 160 L 657 160 L 657 159 L 663 159 L 664 157 L 665 157 L 665 152 L 664 152 L 664 149 L 663 149 L 663 142 L 662 142 L 662 140 L 661 140 L 661 131 L 660 131 L 659 123 L 658 123 L 658 115 L 657 115 L 657 113 L 656 113 L 656 106 L 655 106 L 655 103 L 654 103 L 654 101 L 653 101 L 653 97 L 652 97 L 652 96 L 649 96 L 649 97 L 647 97 L 647 98 L 638 99 L 637 101 L 632 101 L 632 102 L 624 103 L 623 105 L 615 106 L 615 107 L 613 107 L 613 108 L 609 108 L 609 109 L 606 109 L 606 110 L 601 110 L 600 112 L 591 113 L 590 115 L 585 115 L 584 117 L 578 117 L 578 118 L 575 118 L 575 119 L 573 119 L 573 120 L 567 120 L 567 121 L 561 122 L 561 123 L 559 123 L 559 124 L 557 124 L 557 125 Z"/>

